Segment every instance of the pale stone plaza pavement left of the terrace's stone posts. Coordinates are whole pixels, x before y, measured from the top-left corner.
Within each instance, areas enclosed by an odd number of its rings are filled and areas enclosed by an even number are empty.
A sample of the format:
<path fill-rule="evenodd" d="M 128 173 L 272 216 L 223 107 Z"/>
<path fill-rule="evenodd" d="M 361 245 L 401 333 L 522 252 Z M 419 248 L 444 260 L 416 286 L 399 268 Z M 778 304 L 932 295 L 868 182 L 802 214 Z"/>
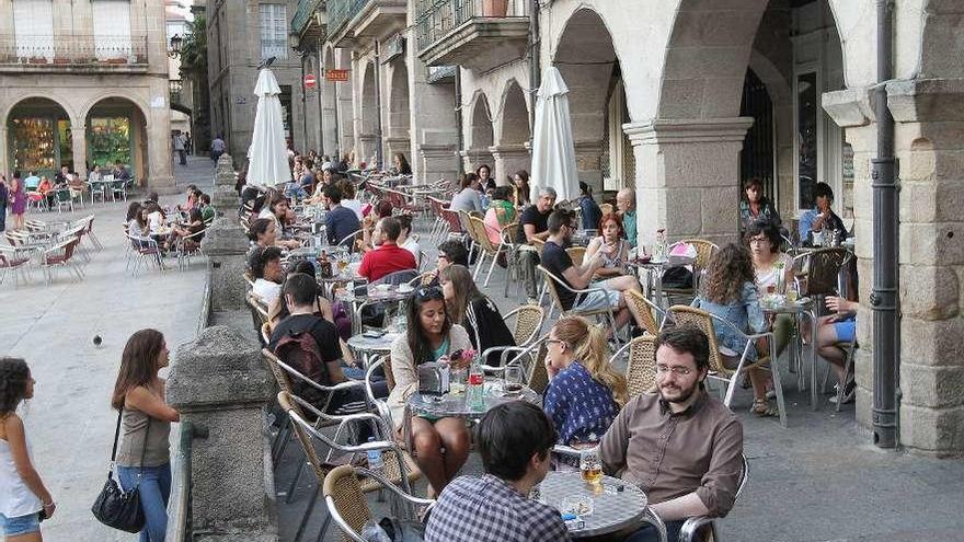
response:
<path fill-rule="evenodd" d="M 188 183 L 211 185 L 210 160 L 193 159 L 174 171 L 182 191 Z M 183 195 L 161 197 L 162 205 L 183 200 Z M 124 203 L 99 201 L 73 214 L 32 212 L 28 218 L 46 221 L 96 215 L 94 232 L 104 250 L 92 254 L 82 281 L 60 272 L 44 286 L 35 269 L 31 285 L 14 289 L 9 276 L 0 286 L 0 353 L 25 358 L 37 380 L 23 415 L 35 465 L 58 505 L 43 526 L 47 541 L 136 540 L 102 527 L 90 512 L 110 462 L 116 422 L 110 399 L 120 353 L 131 333 L 154 327 L 173 354 L 197 327 L 205 262 L 194 258 L 179 272 L 169 260 L 165 272 L 131 277 L 120 228 L 126 209 Z M 100 347 L 94 335 L 103 337 Z M 175 437 L 176 426 L 172 441 Z"/>

